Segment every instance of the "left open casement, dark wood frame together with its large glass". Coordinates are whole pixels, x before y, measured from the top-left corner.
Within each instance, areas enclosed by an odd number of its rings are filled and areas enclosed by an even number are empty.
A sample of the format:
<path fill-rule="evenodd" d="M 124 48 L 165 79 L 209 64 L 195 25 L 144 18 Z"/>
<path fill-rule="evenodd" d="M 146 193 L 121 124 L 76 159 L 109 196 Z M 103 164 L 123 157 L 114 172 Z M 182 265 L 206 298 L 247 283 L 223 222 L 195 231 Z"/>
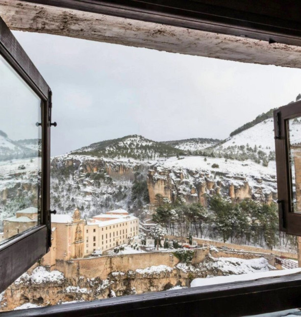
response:
<path fill-rule="evenodd" d="M 51 244 L 51 90 L 1 18 L 0 104 L 0 192 L 4 201 L 13 197 L 0 210 L 2 292 Z"/>

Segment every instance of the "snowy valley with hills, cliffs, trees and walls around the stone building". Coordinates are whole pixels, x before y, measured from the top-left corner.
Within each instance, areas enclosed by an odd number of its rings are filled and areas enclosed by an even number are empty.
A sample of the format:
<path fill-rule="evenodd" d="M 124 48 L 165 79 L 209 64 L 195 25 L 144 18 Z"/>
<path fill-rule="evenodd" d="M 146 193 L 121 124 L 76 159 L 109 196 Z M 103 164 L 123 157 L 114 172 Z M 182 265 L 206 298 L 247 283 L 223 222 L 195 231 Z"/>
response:
<path fill-rule="evenodd" d="M 295 120 L 292 135 L 299 129 L 301 121 Z M 51 208 L 69 217 L 78 210 L 83 223 L 110 210 L 127 210 L 139 218 L 137 244 L 133 247 L 131 238 L 123 250 L 52 259 L 51 265 L 46 255 L 0 296 L 1 309 L 141 294 L 190 287 L 195 278 L 283 269 L 276 259 L 295 260 L 297 241 L 278 230 L 273 136 L 270 110 L 224 140 L 156 142 L 130 135 L 52 157 Z M 16 210 L 39 204 L 40 143 L 12 141 L 4 132 L 0 137 L 5 154 L 0 156 L 1 233 Z M 152 244 L 146 246 L 147 241 Z M 192 243 L 193 250 L 181 248 Z"/>

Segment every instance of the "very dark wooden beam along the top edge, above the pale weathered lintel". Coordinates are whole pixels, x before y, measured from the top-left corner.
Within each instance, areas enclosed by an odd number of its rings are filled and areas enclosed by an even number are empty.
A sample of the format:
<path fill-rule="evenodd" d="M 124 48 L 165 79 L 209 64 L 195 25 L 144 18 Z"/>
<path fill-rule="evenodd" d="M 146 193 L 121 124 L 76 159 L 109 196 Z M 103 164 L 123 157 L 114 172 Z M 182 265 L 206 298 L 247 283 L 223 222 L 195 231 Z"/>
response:
<path fill-rule="evenodd" d="M 301 46 L 301 3 L 221 0 L 27 0 L 61 8 Z"/>

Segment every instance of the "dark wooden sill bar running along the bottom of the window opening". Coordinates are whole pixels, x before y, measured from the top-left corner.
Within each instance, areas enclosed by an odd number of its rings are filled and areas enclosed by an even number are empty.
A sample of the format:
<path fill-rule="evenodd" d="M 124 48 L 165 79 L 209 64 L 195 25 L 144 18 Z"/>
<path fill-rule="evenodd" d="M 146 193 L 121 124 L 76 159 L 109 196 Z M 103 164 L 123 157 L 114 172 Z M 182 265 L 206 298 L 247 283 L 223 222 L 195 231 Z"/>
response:
<path fill-rule="evenodd" d="M 0 313 L 2 317 L 244 316 L 300 306 L 301 275 Z"/>

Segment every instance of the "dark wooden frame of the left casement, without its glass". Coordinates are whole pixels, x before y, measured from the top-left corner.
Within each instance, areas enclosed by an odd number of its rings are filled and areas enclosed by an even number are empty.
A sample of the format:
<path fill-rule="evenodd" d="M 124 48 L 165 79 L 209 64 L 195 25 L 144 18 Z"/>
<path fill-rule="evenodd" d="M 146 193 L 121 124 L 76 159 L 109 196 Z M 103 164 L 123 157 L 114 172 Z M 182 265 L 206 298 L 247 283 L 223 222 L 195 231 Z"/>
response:
<path fill-rule="evenodd" d="M 0 246 L 1 293 L 51 246 L 49 216 L 51 90 L 1 17 L 0 55 L 41 99 L 42 118 L 41 221 L 36 227 L 22 232 Z"/>

